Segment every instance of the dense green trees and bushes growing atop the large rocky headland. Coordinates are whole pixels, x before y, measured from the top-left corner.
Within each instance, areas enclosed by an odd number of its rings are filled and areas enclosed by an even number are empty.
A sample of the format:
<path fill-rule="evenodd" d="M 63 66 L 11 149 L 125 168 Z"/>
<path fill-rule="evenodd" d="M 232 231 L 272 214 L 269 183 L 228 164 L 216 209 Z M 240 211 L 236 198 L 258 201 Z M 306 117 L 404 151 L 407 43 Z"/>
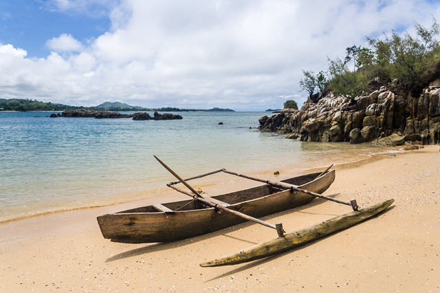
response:
<path fill-rule="evenodd" d="M 329 88 L 338 94 L 352 96 L 364 90 L 397 80 L 395 86 L 418 94 L 436 74 L 440 60 L 440 43 L 436 36 L 439 25 L 434 19 L 431 28 L 415 23 L 415 36 L 392 32 L 382 39 L 369 39 L 370 48 L 347 47 L 344 62 L 329 59 Z M 353 72 L 346 66 L 353 61 Z"/>

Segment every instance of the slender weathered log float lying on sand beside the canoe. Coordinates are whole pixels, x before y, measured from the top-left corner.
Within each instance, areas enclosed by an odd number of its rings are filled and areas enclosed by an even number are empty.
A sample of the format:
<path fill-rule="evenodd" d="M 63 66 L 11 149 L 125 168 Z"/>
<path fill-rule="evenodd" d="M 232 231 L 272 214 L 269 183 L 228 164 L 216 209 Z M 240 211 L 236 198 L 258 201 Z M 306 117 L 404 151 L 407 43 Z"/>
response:
<path fill-rule="evenodd" d="M 388 208 L 388 206 L 391 206 L 393 202 L 394 199 L 388 199 L 385 202 L 375 204 L 374 206 L 361 208 L 360 210 L 355 210 L 351 213 L 323 221 L 315 226 L 296 230 L 295 232 L 289 232 L 284 237 L 278 237 L 270 241 L 259 243 L 256 246 L 230 254 L 226 257 L 201 263 L 200 266 L 217 267 L 221 265 L 236 265 L 239 263 L 255 261 L 256 259 L 263 259 L 264 257 L 270 257 L 271 255 L 285 252 L 289 249 L 320 239 L 331 233 L 349 228 L 361 221 L 374 217 Z"/>

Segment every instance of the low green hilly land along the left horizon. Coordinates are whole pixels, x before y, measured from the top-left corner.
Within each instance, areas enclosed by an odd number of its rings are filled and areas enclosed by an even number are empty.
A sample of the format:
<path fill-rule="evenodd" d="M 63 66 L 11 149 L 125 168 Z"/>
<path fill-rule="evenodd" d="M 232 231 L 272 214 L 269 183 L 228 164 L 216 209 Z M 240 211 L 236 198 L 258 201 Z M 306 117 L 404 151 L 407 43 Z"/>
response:
<path fill-rule="evenodd" d="M 0 98 L 0 111 L 65 111 L 74 109 L 91 109 L 97 111 L 171 111 L 171 112 L 184 112 L 184 111 L 228 111 L 234 112 L 232 109 L 221 109 L 214 107 L 212 109 L 179 109 L 175 107 L 162 107 L 162 108 L 144 108 L 140 106 L 131 106 L 124 102 L 103 102 L 96 107 L 82 107 L 82 106 L 70 106 L 63 104 L 56 104 L 52 102 L 41 102 L 38 100 L 30 99 L 4 99 Z"/>

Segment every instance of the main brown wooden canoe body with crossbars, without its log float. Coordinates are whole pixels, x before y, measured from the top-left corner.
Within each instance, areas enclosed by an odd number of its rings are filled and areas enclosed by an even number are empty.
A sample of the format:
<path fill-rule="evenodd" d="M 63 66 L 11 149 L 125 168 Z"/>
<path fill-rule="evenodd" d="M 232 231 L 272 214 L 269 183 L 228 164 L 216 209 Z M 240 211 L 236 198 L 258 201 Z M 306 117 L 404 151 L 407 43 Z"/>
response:
<path fill-rule="evenodd" d="M 233 172 L 222 169 L 191 177 L 186 181 L 220 171 L 233 174 Z M 334 180 L 335 171 L 327 169 L 322 173 L 309 173 L 292 177 L 278 182 L 278 184 L 267 182 L 262 186 L 212 197 L 197 197 L 195 195 L 193 199 L 184 201 L 122 210 L 118 213 L 98 217 L 98 224 L 102 236 L 114 242 L 153 243 L 177 241 L 246 221 L 246 219 L 241 216 L 237 217 L 234 213 L 258 218 L 302 206 L 311 202 L 318 194 L 326 191 Z M 179 182 L 186 184 L 184 180 Z M 179 182 L 172 182 L 168 186 L 175 188 L 173 185 Z M 293 186 L 293 188 L 285 188 L 285 186 Z M 204 204 L 201 199 L 210 205 Z M 225 213 L 225 210 L 228 213 Z"/>

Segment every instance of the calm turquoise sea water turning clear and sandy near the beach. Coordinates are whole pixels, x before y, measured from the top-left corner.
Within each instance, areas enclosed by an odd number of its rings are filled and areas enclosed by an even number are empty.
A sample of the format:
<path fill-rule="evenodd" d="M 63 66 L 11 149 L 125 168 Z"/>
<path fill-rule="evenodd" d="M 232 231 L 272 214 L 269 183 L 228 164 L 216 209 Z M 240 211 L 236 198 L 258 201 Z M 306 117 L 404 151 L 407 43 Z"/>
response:
<path fill-rule="evenodd" d="M 0 112 L 0 221 L 157 196 L 175 180 L 153 155 L 190 177 L 300 170 L 382 151 L 261 133 L 265 112 L 179 114 L 183 120 L 133 121 Z"/>

